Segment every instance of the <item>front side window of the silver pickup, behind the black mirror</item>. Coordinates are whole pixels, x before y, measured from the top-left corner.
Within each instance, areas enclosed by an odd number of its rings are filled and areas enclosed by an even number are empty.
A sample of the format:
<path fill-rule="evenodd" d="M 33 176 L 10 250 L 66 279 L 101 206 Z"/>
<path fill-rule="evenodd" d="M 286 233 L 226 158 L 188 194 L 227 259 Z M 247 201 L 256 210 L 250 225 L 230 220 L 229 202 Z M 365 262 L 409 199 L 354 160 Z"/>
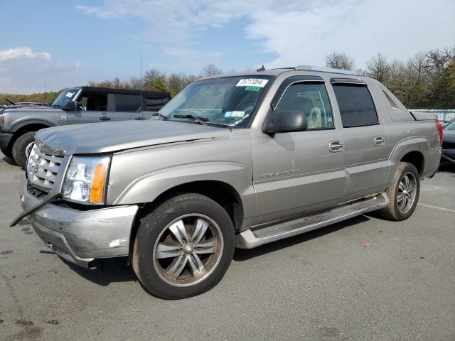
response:
<path fill-rule="evenodd" d="M 333 116 L 325 85 L 296 83 L 287 88 L 275 110 L 304 112 L 308 130 L 333 129 Z"/>

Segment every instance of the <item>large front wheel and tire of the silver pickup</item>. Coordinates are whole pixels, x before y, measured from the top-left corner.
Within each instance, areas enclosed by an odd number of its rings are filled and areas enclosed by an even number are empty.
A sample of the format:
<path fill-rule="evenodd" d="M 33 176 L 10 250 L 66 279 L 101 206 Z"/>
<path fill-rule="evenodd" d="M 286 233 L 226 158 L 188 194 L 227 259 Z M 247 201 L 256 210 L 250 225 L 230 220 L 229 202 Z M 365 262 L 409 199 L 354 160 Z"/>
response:
<path fill-rule="evenodd" d="M 204 195 L 171 197 L 139 220 L 132 266 L 154 296 L 181 299 L 213 288 L 235 250 L 232 220 Z"/>

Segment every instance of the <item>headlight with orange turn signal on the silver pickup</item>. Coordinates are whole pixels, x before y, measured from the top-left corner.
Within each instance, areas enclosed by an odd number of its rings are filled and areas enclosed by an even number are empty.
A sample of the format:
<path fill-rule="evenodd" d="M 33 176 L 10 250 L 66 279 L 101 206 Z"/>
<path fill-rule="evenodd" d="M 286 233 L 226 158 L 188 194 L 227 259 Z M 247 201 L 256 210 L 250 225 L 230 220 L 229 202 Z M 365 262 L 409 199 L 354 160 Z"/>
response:
<path fill-rule="evenodd" d="M 63 198 L 81 204 L 104 204 L 109 162 L 109 156 L 73 156 L 63 182 Z"/>

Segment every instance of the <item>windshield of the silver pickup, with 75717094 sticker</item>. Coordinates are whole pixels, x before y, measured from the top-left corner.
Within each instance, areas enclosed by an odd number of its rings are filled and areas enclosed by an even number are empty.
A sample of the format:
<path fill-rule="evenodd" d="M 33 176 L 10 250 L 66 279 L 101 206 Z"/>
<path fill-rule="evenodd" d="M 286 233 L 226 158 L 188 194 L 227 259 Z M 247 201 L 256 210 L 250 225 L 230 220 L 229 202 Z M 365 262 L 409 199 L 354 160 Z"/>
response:
<path fill-rule="evenodd" d="M 252 117 L 259 97 L 272 77 L 221 77 L 199 80 L 188 85 L 168 102 L 159 114 L 167 119 L 175 115 L 193 115 L 208 124 L 241 126 Z M 188 118 L 186 118 L 188 119 Z"/>

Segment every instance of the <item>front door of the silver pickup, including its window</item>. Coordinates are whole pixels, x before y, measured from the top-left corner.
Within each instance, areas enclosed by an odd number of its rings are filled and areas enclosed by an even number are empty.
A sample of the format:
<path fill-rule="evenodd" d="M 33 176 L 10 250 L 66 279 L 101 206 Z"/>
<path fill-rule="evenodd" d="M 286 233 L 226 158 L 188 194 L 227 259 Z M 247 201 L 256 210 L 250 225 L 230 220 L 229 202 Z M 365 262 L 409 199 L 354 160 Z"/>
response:
<path fill-rule="evenodd" d="M 285 80 L 272 101 L 274 114 L 304 112 L 306 131 L 253 137 L 254 224 L 291 219 L 341 202 L 346 184 L 341 130 L 323 80 Z M 294 82 L 295 81 L 295 82 Z"/>

